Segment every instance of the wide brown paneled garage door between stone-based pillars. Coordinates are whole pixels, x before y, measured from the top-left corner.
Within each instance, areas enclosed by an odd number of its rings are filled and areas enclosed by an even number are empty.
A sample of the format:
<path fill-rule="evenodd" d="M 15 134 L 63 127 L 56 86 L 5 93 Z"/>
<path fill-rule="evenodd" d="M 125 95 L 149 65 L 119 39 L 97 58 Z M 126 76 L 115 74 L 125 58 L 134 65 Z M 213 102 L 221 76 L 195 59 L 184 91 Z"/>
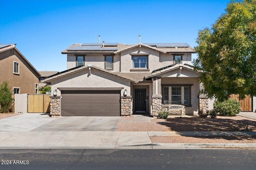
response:
<path fill-rule="evenodd" d="M 62 91 L 62 116 L 120 116 L 120 91 Z"/>

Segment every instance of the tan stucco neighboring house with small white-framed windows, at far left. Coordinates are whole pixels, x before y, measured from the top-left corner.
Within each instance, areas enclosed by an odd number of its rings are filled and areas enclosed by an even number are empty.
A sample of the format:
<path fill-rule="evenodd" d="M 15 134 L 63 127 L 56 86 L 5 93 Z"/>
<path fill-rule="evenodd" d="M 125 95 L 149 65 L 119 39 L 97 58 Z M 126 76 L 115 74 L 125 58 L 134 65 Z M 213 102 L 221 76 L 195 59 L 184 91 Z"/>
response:
<path fill-rule="evenodd" d="M 16 44 L 0 44 L 0 84 L 8 81 L 14 94 L 38 94 L 39 76 Z"/>

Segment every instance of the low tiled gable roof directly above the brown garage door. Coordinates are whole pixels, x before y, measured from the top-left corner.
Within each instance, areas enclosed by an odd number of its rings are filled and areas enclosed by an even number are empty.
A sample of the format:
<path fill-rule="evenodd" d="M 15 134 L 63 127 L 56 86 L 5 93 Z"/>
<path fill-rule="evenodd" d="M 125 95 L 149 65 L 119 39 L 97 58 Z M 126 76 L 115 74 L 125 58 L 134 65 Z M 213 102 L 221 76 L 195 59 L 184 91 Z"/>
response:
<path fill-rule="evenodd" d="M 120 78 L 123 78 L 123 79 L 126 79 L 126 80 L 129 80 L 131 82 L 135 82 L 135 83 L 138 83 L 137 80 L 133 79 L 133 78 L 130 78 L 128 76 L 123 76 L 121 74 L 118 74 L 118 73 L 115 73 L 115 72 L 112 72 L 112 71 L 109 71 L 109 70 L 105 70 L 103 68 L 100 68 L 100 67 L 97 67 L 97 66 L 90 66 L 91 68 L 94 68 L 96 70 L 100 70 L 100 71 L 103 71 L 103 72 L 106 72 L 108 74 L 112 74 L 114 76 L 117 76 L 117 77 L 120 77 Z M 42 82 L 44 83 L 48 83 L 48 82 L 51 82 L 51 80 L 54 80 L 56 78 L 60 78 L 62 76 L 66 76 L 68 74 L 72 74 L 74 72 L 78 72 L 78 71 L 81 71 L 81 70 L 85 70 L 85 69 L 88 69 L 89 67 L 88 66 L 77 66 L 77 67 L 74 67 L 74 68 L 71 68 L 71 69 L 68 69 L 68 70 L 65 70 L 65 71 L 62 71 L 62 72 L 58 72 L 44 80 L 42 80 Z"/>

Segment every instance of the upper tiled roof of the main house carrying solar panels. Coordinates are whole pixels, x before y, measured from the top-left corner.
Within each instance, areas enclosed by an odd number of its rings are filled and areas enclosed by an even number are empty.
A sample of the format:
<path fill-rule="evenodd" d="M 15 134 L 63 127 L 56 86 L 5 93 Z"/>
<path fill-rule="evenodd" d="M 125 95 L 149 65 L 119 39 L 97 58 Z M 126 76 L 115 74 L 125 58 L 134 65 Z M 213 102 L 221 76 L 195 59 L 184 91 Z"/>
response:
<path fill-rule="evenodd" d="M 162 53 L 195 53 L 187 43 L 139 43 L 125 45 L 119 43 L 76 43 L 62 51 L 62 54 L 117 54 L 138 46 L 154 49 Z"/>

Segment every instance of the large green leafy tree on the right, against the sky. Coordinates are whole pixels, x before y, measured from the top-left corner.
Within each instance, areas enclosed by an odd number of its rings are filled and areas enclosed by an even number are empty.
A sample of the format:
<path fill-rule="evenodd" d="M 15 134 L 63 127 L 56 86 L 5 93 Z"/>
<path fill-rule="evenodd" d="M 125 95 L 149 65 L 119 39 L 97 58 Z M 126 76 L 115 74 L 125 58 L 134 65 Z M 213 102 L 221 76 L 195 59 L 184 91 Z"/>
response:
<path fill-rule="evenodd" d="M 195 70 L 203 93 L 220 101 L 256 95 L 256 0 L 232 1 L 212 28 L 198 32 Z"/>

